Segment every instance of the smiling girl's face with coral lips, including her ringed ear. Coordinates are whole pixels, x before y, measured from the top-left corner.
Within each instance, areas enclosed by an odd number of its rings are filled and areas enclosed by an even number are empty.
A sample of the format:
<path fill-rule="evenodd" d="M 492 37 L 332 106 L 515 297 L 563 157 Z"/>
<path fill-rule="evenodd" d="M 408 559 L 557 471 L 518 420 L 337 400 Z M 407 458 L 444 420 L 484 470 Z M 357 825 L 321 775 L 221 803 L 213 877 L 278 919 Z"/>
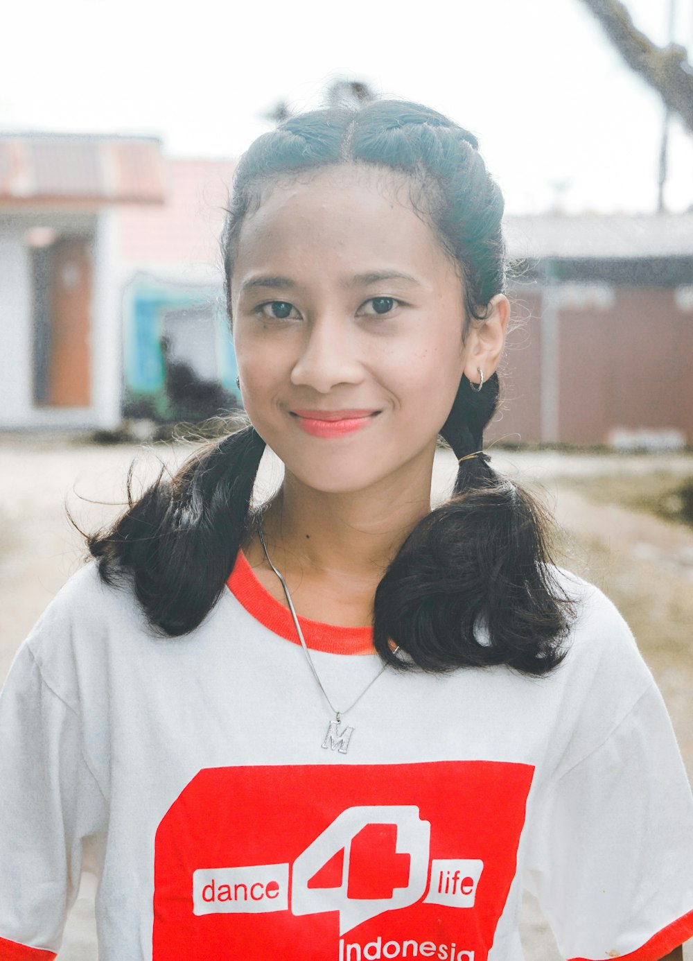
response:
<path fill-rule="evenodd" d="M 406 198 L 392 175 L 334 167 L 276 185 L 241 228 L 231 304 L 244 405 L 287 472 L 318 490 L 430 467 L 463 371 L 492 373 L 483 328 L 463 342 L 457 271 Z"/>

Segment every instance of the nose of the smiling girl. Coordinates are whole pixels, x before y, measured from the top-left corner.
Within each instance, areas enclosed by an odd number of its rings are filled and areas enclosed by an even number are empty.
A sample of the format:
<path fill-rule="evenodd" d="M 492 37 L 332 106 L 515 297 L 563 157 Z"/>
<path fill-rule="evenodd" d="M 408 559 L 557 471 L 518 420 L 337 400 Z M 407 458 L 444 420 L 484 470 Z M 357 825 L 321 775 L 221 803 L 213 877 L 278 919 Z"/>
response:
<path fill-rule="evenodd" d="M 291 382 L 323 394 L 340 383 L 361 382 L 364 371 L 357 339 L 356 332 L 342 319 L 321 318 L 310 324 Z"/>

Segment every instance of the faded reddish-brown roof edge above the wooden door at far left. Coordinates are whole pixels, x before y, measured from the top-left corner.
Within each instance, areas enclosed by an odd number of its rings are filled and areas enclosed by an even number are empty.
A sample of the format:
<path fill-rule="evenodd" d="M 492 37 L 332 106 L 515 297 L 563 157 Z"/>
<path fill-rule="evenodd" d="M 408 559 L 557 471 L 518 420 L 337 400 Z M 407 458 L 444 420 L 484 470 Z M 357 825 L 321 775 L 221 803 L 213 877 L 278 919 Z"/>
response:
<path fill-rule="evenodd" d="M 161 144 L 155 137 L 0 134 L 0 204 L 159 204 Z"/>

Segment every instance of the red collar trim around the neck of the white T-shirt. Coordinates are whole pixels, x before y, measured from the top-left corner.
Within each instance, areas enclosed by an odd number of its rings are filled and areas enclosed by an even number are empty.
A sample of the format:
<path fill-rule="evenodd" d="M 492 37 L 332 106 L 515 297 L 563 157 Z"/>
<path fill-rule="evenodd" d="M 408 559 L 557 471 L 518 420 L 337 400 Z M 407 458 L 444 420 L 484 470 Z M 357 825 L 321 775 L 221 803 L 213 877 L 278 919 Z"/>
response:
<path fill-rule="evenodd" d="M 279 637 L 300 644 L 291 611 L 265 590 L 253 574 L 243 551 L 238 552 L 227 587 L 256 621 Z M 320 621 L 309 621 L 306 617 L 299 617 L 299 624 L 306 645 L 313 651 L 332 654 L 374 653 L 372 628 L 340 628 Z"/>

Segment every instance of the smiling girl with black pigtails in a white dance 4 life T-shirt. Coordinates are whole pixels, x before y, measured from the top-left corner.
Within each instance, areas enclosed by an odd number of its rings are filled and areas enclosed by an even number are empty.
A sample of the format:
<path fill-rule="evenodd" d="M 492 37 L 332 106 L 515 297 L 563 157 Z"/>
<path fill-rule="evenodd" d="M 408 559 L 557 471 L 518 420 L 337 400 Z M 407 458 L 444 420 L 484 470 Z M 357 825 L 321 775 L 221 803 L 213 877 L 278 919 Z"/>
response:
<path fill-rule="evenodd" d="M 241 160 L 251 426 L 93 537 L 17 655 L 0 957 L 54 956 L 87 865 L 102 961 L 519 961 L 523 887 L 566 958 L 681 958 L 693 801 L 657 687 L 483 452 L 502 211 L 475 138 L 415 104 Z M 284 480 L 253 505 L 266 444 Z"/>

